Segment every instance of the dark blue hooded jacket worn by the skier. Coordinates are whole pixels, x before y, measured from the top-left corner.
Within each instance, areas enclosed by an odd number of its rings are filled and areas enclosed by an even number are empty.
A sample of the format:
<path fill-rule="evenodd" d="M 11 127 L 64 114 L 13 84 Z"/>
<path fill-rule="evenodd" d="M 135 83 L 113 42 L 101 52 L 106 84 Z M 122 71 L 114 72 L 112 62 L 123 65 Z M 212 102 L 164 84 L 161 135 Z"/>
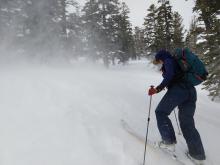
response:
<path fill-rule="evenodd" d="M 161 50 L 155 55 L 156 61 L 163 61 L 162 71 L 163 71 L 163 81 L 157 87 L 160 91 L 165 87 L 169 87 L 175 79 L 175 76 L 181 72 L 181 69 L 174 59 L 174 57 L 166 50 Z"/>

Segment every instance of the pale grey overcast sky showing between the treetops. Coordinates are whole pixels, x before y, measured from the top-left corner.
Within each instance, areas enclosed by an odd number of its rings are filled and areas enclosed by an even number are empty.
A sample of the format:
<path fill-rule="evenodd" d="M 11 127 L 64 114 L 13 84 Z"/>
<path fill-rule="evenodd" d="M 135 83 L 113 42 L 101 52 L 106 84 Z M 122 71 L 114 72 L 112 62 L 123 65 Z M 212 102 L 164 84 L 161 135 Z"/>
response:
<path fill-rule="evenodd" d="M 78 0 L 83 5 L 86 0 Z M 157 4 L 158 0 L 120 0 L 125 2 L 130 8 L 130 20 L 133 26 L 142 26 L 144 17 L 147 15 L 147 9 L 154 3 Z M 174 11 L 178 11 L 183 17 L 183 24 L 185 28 L 189 28 L 189 24 L 192 20 L 193 13 L 192 8 L 194 6 L 193 0 L 170 0 Z"/>

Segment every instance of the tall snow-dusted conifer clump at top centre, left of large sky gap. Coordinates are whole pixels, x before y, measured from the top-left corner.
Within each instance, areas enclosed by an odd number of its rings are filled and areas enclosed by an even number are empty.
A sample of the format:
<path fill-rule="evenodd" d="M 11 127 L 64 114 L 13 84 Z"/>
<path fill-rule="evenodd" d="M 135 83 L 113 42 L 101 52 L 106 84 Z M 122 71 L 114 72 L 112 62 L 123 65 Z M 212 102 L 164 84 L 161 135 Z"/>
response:
<path fill-rule="evenodd" d="M 91 59 L 103 58 L 106 66 L 115 58 L 135 58 L 129 8 L 118 0 L 89 0 L 83 8 L 86 49 Z"/>

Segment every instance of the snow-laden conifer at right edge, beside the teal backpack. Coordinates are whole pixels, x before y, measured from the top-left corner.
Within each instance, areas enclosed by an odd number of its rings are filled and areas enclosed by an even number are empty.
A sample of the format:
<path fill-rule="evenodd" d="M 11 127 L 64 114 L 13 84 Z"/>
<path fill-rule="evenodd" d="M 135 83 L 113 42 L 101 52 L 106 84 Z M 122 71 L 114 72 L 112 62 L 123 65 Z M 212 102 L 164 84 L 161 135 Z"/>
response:
<path fill-rule="evenodd" d="M 204 60 L 209 69 L 209 79 L 205 88 L 214 98 L 220 97 L 220 3 L 213 0 L 197 0 L 195 10 L 199 13 L 199 20 L 203 21 Z"/>

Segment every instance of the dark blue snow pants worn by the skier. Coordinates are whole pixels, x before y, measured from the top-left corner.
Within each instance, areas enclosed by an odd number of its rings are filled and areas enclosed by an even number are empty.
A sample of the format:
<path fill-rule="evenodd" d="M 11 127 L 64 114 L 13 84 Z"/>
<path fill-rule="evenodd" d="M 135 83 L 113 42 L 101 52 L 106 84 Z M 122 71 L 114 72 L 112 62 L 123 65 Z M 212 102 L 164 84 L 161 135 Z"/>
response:
<path fill-rule="evenodd" d="M 156 118 L 162 140 L 168 143 L 175 143 L 174 128 L 168 116 L 178 106 L 180 127 L 186 140 L 189 154 L 196 159 L 203 160 L 205 159 L 205 152 L 193 118 L 196 100 L 196 89 L 193 86 L 185 84 L 173 85 L 157 106 Z"/>

